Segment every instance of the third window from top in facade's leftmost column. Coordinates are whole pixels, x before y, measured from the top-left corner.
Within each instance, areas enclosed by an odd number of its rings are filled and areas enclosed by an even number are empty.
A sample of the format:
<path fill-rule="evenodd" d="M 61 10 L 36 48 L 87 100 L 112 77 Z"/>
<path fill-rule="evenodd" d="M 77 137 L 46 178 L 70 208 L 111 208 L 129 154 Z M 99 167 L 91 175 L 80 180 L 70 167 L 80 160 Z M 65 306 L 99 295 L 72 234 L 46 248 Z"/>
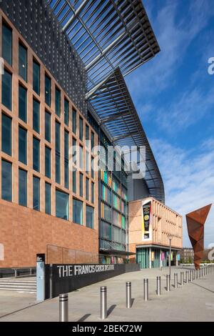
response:
<path fill-rule="evenodd" d="M 6 114 L 1 115 L 1 150 L 2 152 L 12 154 L 12 134 L 11 134 L 12 119 Z"/>

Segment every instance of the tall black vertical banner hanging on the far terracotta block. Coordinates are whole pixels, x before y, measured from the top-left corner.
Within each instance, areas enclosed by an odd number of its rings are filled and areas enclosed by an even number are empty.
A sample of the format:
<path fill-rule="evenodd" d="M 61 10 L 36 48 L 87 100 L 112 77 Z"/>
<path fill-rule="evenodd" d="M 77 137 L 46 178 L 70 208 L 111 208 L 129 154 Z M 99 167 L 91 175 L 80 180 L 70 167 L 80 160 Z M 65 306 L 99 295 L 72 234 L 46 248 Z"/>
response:
<path fill-rule="evenodd" d="M 151 201 L 144 201 L 142 205 L 142 240 L 152 239 L 152 212 Z"/>

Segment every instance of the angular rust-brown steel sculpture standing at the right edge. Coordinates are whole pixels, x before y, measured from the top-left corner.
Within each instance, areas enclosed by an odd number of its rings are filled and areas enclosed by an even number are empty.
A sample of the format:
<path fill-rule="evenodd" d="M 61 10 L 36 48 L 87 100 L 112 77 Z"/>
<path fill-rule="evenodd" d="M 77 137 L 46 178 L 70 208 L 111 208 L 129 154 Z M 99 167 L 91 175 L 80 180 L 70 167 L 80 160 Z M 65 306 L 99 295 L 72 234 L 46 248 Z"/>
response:
<path fill-rule="evenodd" d="M 204 250 L 204 224 L 208 217 L 210 207 L 212 204 L 202 207 L 198 210 L 186 214 L 186 222 L 188 227 L 188 234 L 190 242 L 194 250 L 195 269 L 200 268 L 200 262 L 203 259 Z"/>

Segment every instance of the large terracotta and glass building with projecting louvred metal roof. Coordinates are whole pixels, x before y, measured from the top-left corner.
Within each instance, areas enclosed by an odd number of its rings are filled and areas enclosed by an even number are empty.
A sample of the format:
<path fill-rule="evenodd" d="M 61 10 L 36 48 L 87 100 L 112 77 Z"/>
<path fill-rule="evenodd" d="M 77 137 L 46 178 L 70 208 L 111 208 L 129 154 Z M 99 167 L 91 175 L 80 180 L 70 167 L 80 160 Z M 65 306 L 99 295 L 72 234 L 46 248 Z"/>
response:
<path fill-rule="evenodd" d="M 0 265 L 29 266 L 36 253 L 56 257 L 61 249 L 65 258 L 71 258 L 67 250 L 85 253 L 74 262 L 98 262 L 98 255 L 100 262 L 123 262 L 130 255 L 128 201 L 152 196 L 165 202 L 124 79 L 160 51 L 141 0 L 0 0 L 0 17 L 0 221 L 6 211 L 10 223 L 1 235 Z M 99 172 L 91 151 L 96 145 L 103 148 Z M 142 188 L 125 157 L 118 171 L 114 153 L 108 169 L 109 145 L 146 147 Z M 18 233 L 12 223 L 19 218 Z M 16 240 L 28 232 L 29 244 L 14 245 L 10 255 L 13 230 Z"/>

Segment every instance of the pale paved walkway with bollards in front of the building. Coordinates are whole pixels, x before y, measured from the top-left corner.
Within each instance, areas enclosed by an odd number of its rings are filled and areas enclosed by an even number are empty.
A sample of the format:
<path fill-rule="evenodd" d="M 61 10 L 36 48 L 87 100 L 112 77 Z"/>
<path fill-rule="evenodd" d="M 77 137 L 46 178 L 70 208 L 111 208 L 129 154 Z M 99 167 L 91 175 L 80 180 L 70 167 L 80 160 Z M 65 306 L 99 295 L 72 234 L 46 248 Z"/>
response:
<path fill-rule="evenodd" d="M 180 283 L 180 269 L 178 283 Z M 178 285 L 165 291 L 167 270 L 142 270 L 126 273 L 109 280 L 84 287 L 69 294 L 69 320 L 91 322 L 99 320 L 99 288 L 108 288 L 107 321 L 213 321 L 214 272 L 200 280 Z M 156 276 L 161 275 L 161 297 L 156 295 Z M 143 301 L 143 278 L 149 280 L 149 301 Z M 173 278 L 173 277 L 172 277 Z M 126 281 L 132 282 L 133 306 L 126 309 Z M 58 298 L 34 305 L 35 297 L 0 291 L 0 322 L 4 321 L 58 321 Z M 33 305 L 29 307 L 29 305 Z M 23 310 L 23 307 L 27 307 Z M 19 312 L 14 310 L 20 309 Z M 11 314 L 9 314 L 11 312 Z M 12 313 L 14 312 L 14 313 Z M 4 316 L 5 314 L 9 314 Z"/>

